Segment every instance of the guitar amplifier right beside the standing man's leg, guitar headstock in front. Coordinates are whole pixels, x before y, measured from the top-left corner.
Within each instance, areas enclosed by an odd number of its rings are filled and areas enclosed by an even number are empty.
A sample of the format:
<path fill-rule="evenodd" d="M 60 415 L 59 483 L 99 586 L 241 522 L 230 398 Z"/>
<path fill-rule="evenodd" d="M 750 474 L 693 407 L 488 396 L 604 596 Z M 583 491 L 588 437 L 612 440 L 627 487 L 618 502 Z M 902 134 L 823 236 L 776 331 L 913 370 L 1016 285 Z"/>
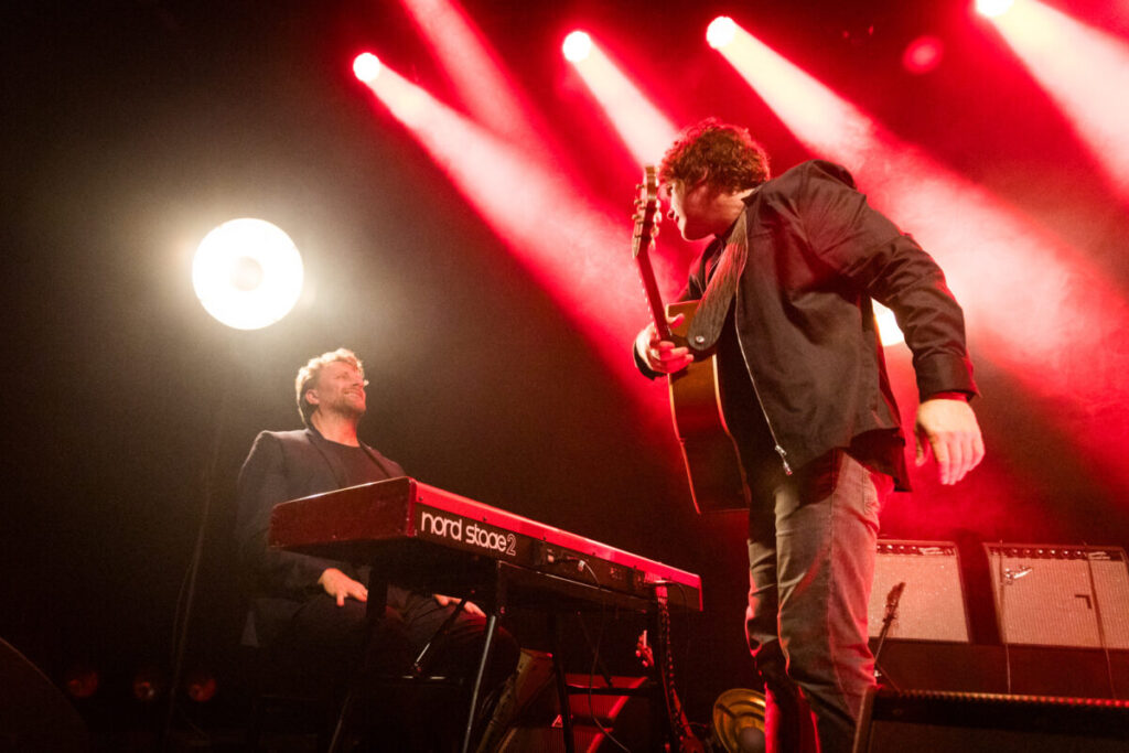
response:
<path fill-rule="evenodd" d="M 886 599 L 902 583 L 905 587 L 887 638 L 969 642 L 956 544 L 891 539 L 878 542 L 867 610 L 872 638 L 882 632 Z"/>

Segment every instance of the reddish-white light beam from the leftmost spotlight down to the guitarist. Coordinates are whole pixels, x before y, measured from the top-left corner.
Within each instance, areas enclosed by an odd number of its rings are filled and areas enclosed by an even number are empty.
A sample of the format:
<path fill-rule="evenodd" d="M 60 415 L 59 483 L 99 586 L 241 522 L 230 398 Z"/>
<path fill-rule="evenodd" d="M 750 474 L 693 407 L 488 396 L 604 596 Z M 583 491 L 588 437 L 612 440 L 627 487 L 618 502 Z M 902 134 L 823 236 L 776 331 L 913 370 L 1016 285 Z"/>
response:
<path fill-rule="evenodd" d="M 628 253 L 630 224 L 592 207 L 554 165 L 471 122 L 392 69 L 371 88 L 588 335 L 611 370 L 637 384 L 638 374 L 623 356 L 624 343 L 646 319 Z M 595 300 L 590 292 L 597 281 L 603 292 Z"/>

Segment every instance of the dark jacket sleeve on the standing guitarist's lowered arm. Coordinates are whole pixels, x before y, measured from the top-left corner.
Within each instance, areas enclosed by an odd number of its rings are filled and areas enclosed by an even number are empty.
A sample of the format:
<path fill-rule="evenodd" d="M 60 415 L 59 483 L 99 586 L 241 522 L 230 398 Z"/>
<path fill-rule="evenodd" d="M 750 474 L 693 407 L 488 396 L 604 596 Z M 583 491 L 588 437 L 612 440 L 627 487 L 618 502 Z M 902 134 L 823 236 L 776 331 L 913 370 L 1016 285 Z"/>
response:
<path fill-rule="evenodd" d="M 913 353 L 920 399 L 939 392 L 978 394 L 964 314 L 933 257 L 867 203 L 844 168 L 809 163 L 802 181 L 796 209 L 813 252 L 893 310 Z"/>

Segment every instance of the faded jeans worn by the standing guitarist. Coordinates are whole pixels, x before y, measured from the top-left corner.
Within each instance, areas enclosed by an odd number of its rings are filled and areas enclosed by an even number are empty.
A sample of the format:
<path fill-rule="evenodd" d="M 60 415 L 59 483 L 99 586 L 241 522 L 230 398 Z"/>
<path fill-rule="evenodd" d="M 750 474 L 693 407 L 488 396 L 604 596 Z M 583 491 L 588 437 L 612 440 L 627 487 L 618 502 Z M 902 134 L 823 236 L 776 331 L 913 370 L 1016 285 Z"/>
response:
<path fill-rule="evenodd" d="M 799 750 L 803 693 L 820 752 L 850 753 L 874 684 L 866 614 L 892 489 L 890 476 L 832 450 L 753 498 L 745 633 L 769 701 L 769 751 Z"/>

